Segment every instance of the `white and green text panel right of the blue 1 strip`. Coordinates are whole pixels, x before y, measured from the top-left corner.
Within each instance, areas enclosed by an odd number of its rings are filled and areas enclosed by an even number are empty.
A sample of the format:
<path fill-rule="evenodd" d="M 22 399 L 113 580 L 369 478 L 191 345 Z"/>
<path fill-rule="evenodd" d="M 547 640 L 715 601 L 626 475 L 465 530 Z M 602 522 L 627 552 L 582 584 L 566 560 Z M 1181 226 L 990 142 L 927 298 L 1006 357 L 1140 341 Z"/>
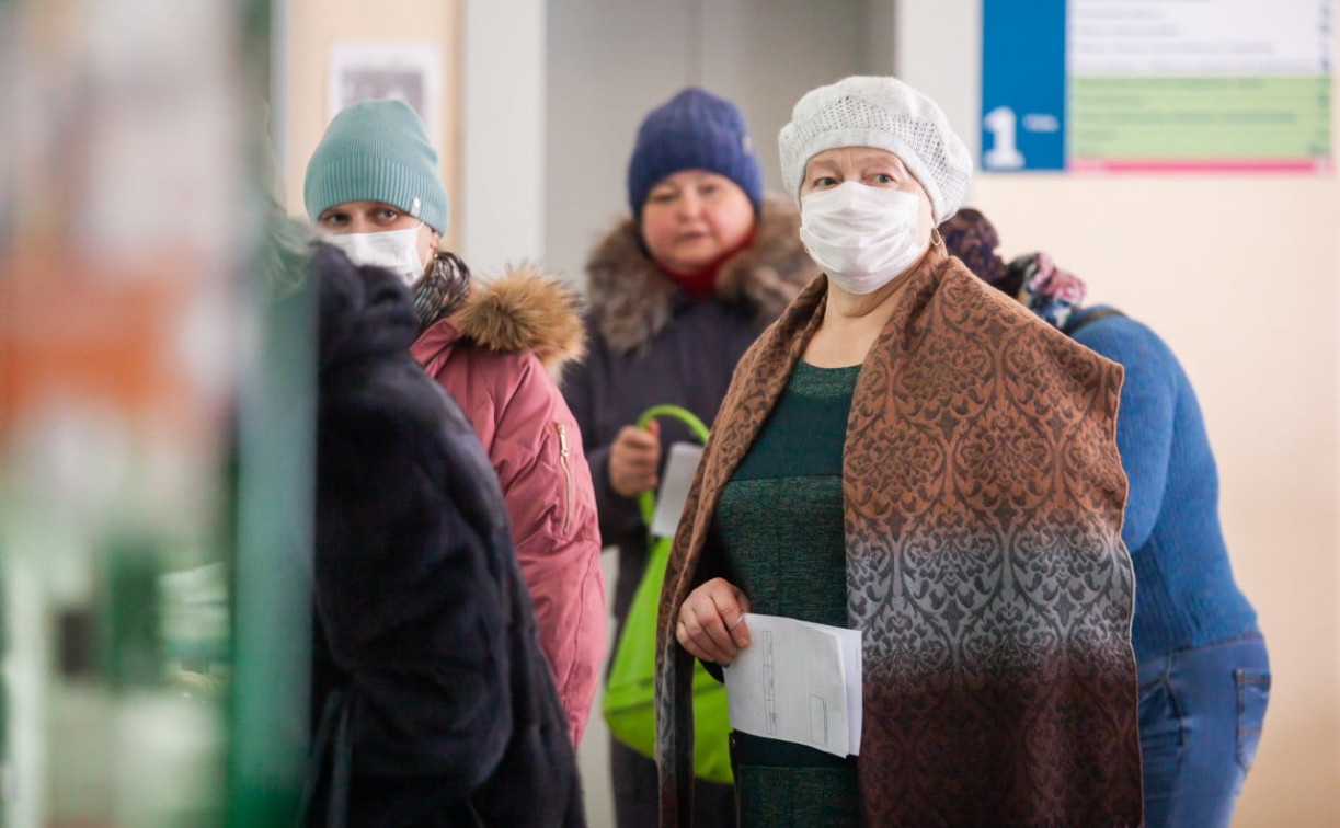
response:
<path fill-rule="evenodd" d="M 1331 170 L 1332 0 L 1069 0 L 1071 169 Z"/>

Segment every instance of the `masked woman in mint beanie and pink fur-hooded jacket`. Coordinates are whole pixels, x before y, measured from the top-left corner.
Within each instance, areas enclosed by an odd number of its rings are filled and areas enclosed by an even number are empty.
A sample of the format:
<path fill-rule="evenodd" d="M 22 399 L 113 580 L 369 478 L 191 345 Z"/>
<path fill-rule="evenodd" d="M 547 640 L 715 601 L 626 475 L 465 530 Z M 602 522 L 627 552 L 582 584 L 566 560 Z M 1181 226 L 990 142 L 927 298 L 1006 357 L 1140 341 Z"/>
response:
<path fill-rule="evenodd" d="M 383 267 L 414 296 L 413 356 L 474 426 L 498 477 L 540 646 L 582 738 L 604 655 L 604 580 L 591 472 L 555 379 L 583 351 L 578 300 L 535 271 L 472 285 L 438 251 L 448 197 L 423 122 L 399 100 L 340 111 L 307 166 L 304 201 L 326 240 Z"/>

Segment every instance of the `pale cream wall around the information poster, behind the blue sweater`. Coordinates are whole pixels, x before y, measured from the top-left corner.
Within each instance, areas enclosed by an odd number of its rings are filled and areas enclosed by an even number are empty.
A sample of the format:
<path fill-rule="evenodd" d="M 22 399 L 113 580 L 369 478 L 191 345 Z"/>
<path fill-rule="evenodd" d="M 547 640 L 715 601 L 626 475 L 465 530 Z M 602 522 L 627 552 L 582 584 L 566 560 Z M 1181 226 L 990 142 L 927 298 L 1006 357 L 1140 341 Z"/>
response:
<path fill-rule="evenodd" d="M 980 4 L 900 3 L 899 71 L 978 143 Z M 1008 256 L 1045 249 L 1154 327 L 1195 385 L 1234 572 L 1274 686 L 1234 825 L 1340 824 L 1336 476 L 1340 182 L 1311 176 L 978 176 Z"/>

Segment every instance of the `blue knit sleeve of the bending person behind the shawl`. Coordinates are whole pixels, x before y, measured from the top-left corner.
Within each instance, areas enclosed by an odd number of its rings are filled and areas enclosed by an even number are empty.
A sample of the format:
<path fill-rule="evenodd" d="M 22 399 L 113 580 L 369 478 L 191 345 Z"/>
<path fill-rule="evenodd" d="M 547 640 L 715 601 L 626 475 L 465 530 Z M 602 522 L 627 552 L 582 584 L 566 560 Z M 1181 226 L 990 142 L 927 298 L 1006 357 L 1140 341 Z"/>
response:
<path fill-rule="evenodd" d="M 1075 340 L 1126 368 L 1116 413 L 1116 450 L 1127 480 L 1122 540 L 1127 549 L 1139 549 L 1154 533 L 1167 488 L 1177 415 L 1175 362 L 1152 331 L 1131 319 L 1085 326 Z"/>

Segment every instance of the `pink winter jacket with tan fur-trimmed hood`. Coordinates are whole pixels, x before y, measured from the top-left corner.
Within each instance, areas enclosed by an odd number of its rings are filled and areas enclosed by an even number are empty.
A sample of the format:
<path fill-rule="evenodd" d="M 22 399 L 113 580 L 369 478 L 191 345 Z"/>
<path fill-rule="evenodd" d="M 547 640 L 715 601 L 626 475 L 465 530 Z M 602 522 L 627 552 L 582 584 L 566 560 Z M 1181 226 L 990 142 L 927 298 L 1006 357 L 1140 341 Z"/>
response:
<path fill-rule="evenodd" d="M 474 289 L 411 348 L 469 417 L 498 476 L 574 746 L 591 713 L 606 644 L 591 469 L 555 383 L 582 350 L 574 296 L 531 271 Z"/>

